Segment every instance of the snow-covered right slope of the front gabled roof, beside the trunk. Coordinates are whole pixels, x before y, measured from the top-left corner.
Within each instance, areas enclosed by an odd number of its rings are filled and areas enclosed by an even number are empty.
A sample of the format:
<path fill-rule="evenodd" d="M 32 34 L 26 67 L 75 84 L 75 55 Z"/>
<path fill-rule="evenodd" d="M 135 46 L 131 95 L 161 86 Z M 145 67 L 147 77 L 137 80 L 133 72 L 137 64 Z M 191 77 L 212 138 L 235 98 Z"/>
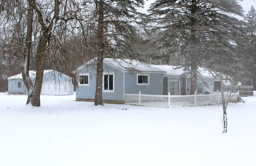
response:
<path fill-rule="evenodd" d="M 131 59 L 113 59 L 113 58 L 104 58 L 104 62 L 111 64 L 112 66 L 116 66 L 121 70 L 129 71 L 129 70 L 138 70 L 141 72 L 166 72 L 160 68 L 156 68 L 155 66 L 144 64 L 137 60 Z"/>

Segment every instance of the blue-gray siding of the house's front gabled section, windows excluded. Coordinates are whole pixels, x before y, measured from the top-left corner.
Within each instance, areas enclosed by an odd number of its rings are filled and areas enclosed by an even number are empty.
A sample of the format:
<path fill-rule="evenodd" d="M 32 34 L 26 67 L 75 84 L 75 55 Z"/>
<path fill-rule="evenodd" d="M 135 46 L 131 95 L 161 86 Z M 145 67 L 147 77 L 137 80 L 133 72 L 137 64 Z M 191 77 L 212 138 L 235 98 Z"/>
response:
<path fill-rule="evenodd" d="M 89 74 L 89 86 L 78 86 L 76 100 L 94 101 L 96 91 L 96 66 L 86 66 L 78 71 L 78 74 Z M 104 63 L 103 72 L 114 73 L 114 92 L 102 92 L 102 100 L 124 101 L 125 94 L 162 94 L 162 73 L 150 73 L 149 85 L 137 85 L 136 74 L 138 72 L 123 71 Z M 109 100 L 109 101 L 108 101 Z M 117 103 L 117 102 L 114 102 Z"/>

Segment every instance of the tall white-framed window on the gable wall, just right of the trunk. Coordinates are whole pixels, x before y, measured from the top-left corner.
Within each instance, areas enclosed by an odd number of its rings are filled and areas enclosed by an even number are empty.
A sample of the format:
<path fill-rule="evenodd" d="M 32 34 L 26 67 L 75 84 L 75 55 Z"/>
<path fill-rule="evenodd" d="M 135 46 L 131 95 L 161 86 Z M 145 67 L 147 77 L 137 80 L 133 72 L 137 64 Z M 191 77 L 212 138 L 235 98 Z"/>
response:
<path fill-rule="evenodd" d="M 103 92 L 114 92 L 114 73 L 103 73 Z"/>

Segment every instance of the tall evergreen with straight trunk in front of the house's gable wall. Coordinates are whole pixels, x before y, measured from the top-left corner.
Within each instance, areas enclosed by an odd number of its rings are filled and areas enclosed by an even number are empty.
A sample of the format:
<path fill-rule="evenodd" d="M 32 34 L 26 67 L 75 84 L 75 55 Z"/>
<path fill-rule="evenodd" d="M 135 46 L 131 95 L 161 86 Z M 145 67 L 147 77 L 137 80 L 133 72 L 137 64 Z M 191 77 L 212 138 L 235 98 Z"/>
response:
<path fill-rule="evenodd" d="M 96 61 L 95 105 L 102 105 L 103 59 L 138 58 L 131 41 L 138 16 L 137 8 L 144 0 L 85 0 L 88 9 L 85 26 L 90 30 L 88 48 L 93 50 Z M 90 47 L 89 47 L 90 46 Z"/>

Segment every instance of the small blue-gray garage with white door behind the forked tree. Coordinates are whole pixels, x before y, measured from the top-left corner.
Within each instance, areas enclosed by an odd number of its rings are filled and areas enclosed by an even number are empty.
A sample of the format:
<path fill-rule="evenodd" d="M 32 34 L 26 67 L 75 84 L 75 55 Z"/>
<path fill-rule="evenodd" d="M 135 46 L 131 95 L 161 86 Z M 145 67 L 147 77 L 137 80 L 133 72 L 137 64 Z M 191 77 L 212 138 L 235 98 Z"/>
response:
<path fill-rule="evenodd" d="M 36 71 L 29 71 L 29 75 L 32 80 L 35 80 Z M 42 95 L 72 95 L 73 91 L 74 86 L 71 77 L 55 70 L 44 70 Z M 8 78 L 8 92 L 28 94 L 28 90 L 22 80 L 22 74 Z"/>

